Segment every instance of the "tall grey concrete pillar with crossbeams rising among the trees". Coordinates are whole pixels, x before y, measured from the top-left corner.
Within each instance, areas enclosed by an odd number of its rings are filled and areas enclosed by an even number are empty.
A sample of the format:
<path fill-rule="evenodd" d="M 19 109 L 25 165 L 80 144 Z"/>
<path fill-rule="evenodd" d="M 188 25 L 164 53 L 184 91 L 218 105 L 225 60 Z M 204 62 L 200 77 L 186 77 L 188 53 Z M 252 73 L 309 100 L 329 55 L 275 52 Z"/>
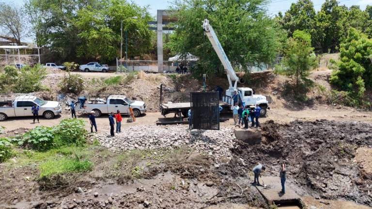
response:
<path fill-rule="evenodd" d="M 177 19 L 172 17 L 171 10 L 157 10 L 156 22 L 150 21 L 149 25 L 156 25 L 155 27 L 149 27 L 150 30 L 156 30 L 157 32 L 157 72 L 163 73 L 163 30 L 174 30 L 171 27 L 163 27 L 171 22 L 175 22 Z"/>

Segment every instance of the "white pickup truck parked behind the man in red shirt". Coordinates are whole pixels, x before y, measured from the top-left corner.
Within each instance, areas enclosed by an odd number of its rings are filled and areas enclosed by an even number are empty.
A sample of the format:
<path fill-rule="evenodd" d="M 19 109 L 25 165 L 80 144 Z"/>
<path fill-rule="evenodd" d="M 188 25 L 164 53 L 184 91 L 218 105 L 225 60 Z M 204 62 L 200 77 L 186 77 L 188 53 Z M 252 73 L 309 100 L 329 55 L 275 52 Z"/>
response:
<path fill-rule="evenodd" d="M 102 99 L 102 96 L 87 96 L 87 101 L 84 104 L 84 111 L 90 113 L 94 111 L 93 115 L 99 117 L 102 114 L 116 113 L 117 110 L 121 114 L 129 114 L 129 105 L 133 109 L 134 117 L 139 117 L 147 110 L 146 104 L 142 101 L 130 100 L 124 95 L 109 95 Z"/>

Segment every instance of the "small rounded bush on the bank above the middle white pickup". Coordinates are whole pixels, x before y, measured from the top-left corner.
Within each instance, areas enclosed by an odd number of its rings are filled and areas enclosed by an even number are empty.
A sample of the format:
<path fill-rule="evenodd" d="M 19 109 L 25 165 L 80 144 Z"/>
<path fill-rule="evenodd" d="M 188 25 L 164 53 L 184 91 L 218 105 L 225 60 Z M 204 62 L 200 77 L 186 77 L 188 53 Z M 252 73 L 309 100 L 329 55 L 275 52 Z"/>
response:
<path fill-rule="evenodd" d="M 84 79 L 81 75 L 64 75 L 59 87 L 63 93 L 74 93 L 78 95 L 82 90 L 84 90 Z"/>

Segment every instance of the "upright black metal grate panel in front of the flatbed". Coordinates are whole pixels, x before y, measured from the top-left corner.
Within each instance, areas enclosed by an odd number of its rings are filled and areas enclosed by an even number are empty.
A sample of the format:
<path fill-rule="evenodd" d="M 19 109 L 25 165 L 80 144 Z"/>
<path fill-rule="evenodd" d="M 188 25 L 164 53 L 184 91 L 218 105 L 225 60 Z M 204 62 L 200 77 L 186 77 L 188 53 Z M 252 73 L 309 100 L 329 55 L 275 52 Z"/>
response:
<path fill-rule="evenodd" d="M 218 92 L 190 92 L 190 101 L 191 128 L 219 130 Z"/>

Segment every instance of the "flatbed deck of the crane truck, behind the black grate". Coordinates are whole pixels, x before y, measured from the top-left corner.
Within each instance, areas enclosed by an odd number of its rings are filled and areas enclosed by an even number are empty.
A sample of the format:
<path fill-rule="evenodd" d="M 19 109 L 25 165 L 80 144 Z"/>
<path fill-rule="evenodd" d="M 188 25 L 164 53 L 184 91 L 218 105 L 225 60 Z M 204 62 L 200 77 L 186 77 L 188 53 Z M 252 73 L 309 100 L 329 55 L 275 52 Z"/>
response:
<path fill-rule="evenodd" d="M 219 105 L 222 106 L 223 112 L 230 111 L 231 109 L 231 102 L 232 98 L 230 96 L 222 95 L 223 102 L 219 101 Z M 191 103 L 184 102 L 184 103 L 164 103 L 164 96 L 163 96 L 163 84 L 160 84 L 160 101 L 159 101 L 159 108 L 161 111 L 161 114 L 166 117 L 166 115 L 170 113 L 177 114 L 180 117 L 180 120 L 182 120 L 182 115 L 187 118 L 187 112 L 191 108 Z"/>

